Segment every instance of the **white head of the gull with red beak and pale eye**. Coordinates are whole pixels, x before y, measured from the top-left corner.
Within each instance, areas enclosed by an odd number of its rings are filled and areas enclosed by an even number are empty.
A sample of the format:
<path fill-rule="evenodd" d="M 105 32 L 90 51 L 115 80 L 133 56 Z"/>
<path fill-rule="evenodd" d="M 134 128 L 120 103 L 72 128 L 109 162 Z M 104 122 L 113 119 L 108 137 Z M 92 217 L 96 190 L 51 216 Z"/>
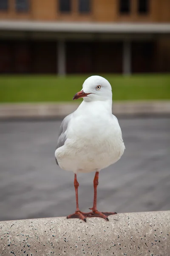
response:
<path fill-rule="evenodd" d="M 112 101 L 111 84 L 102 76 L 90 76 L 84 81 L 82 90 L 74 95 L 73 100 L 79 98 L 86 102 Z"/>

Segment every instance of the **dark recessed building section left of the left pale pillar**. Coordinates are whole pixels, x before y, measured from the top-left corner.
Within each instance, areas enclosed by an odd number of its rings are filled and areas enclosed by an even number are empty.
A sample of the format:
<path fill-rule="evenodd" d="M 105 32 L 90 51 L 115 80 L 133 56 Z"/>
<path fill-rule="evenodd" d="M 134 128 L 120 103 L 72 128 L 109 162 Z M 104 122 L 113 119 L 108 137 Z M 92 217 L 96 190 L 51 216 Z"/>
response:
<path fill-rule="evenodd" d="M 0 73 L 57 73 L 56 42 L 1 41 Z"/>

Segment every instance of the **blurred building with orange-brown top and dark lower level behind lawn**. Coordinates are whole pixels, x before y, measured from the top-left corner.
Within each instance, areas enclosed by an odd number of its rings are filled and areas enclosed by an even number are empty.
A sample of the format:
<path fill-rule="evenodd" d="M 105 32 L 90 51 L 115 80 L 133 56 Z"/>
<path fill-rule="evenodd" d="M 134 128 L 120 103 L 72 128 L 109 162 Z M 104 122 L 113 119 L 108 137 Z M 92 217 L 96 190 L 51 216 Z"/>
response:
<path fill-rule="evenodd" d="M 170 0 L 0 0 L 0 73 L 170 71 Z"/>

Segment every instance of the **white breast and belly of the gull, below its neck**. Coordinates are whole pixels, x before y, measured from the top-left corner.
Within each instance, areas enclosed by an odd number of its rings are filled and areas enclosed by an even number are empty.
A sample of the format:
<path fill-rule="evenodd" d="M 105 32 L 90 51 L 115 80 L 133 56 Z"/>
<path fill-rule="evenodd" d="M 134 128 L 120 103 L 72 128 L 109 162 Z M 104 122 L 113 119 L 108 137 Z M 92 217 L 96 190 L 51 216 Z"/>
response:
<path fill-rule="evenodd" d="M 98 111 L 75 116 L 69 124 L 65 145 L 55 154 L 62 169 L 92 172 L 115 163 L 124 150 L 117 119 Z"/>

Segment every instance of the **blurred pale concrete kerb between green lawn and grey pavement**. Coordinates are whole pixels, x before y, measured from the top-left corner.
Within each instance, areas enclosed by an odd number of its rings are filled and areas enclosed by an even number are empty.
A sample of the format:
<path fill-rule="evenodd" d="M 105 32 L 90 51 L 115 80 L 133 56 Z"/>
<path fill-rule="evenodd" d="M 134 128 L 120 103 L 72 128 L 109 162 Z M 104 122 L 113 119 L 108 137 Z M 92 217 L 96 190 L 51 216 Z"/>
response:
<path fill-rule="evenodd" d="M 0 119 L 62 118 L 75 111 L 80 103 L 0 104 Z M 170 101 L 113 102 L 115 115 L 170 114 Z"/>

